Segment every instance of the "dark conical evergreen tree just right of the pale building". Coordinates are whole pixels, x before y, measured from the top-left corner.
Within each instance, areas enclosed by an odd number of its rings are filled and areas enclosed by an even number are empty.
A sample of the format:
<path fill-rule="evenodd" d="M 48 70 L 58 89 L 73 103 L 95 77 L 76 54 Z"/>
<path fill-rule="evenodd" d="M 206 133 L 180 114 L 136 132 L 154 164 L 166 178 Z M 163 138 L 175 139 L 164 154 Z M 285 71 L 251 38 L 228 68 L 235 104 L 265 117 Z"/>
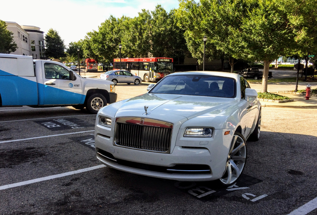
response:
<path fill-rule="evenodd" d="M 50 58 L 65 57 L 64 40 L 61 39 L 58 32 L 50 28 L 45 35 L 45 55 Z"/>

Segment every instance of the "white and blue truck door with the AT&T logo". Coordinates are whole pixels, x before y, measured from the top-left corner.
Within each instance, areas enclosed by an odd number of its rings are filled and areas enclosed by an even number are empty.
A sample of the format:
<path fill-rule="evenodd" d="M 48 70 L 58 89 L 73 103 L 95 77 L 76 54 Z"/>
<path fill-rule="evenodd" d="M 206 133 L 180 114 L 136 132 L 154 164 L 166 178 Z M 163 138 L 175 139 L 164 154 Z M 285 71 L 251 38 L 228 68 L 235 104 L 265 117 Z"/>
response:
<path fill-rule="evenodd" d="M 80 78 L 69 80 L 69 70 L 61 65 L 44 63 L 43 83 L 44 105 L 78 105 L 82 101 Z"/>

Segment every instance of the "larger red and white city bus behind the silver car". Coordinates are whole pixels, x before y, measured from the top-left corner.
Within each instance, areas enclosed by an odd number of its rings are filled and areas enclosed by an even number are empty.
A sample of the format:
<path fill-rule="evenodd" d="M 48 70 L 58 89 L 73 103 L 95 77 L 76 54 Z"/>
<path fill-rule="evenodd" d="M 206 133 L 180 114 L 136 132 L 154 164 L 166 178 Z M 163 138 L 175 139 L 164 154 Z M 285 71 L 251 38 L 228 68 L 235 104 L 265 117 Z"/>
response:
<path fill-rule="evenodd" d="M 145 82 L 157 82 L 174 72 L 172 58 L 121 58 L 113 60 L 114 70 L 126 70 L 134 75 L 140 76 Z"/>

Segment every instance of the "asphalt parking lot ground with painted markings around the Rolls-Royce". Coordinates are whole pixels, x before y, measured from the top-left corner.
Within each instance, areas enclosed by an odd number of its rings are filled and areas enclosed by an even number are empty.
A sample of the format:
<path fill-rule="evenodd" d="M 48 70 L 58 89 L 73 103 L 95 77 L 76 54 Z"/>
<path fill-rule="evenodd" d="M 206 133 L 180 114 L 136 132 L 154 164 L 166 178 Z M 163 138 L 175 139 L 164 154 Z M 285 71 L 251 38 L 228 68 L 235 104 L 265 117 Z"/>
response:
<path fill-rule="evenodd" d="M 305 115 L 317 118 L 314 109 L 263 108 L 261 137 L 247 142 L 243 176 L 221 188 L 101 165 L 94 151 L 96 115 L 86 111 L 1 108 L 0 214 L 317 214 L 317 131 Z"/>

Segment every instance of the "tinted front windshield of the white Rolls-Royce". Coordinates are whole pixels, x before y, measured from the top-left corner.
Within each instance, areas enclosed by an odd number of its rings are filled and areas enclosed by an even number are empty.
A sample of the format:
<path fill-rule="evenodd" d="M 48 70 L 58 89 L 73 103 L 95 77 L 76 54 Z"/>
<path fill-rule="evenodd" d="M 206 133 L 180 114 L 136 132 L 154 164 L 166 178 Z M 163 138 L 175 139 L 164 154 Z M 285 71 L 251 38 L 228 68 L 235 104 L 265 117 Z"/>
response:
<path fill-rule="evenodd" d="M 150 93 L 235 98 L 236 81 L 208 75 L 173 75 L 162 79 Z"/>

